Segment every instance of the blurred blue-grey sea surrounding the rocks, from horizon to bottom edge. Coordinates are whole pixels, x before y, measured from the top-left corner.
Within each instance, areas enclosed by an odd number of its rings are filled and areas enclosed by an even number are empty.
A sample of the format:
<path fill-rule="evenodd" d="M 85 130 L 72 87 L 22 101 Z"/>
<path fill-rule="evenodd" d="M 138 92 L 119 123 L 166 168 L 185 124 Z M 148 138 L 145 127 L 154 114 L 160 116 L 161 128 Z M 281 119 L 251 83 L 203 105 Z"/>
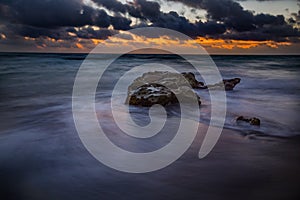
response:
<path fill-rule="evenodd" d="M 222 77 L 241 78 L 226 93 L 227 115 L 216 146 L 198 158 L 210 99 L 206 91 L 197 90 L 202 105 L 193 144 L 171 165 L 144 174 L 111 169 L 83 146 L 72 115 L 72 89 L 85 58 L 86 54 L 1 54 L 1 199 L 299 198 L 298 56 L 213 56 Z M 115 76 L 99 84 L 99 121 L 112 141 L 121 147 L 130 144 L 127 148 L 134 151 L 158 148 L 170 140 L 166 135 L 142 144 L 127 142 L 128 136 L 119 138 L 112 123 L 112 85 L 145 60 L 190 70 L 182 68 L 185 63 L 177 57 L 130 55 L 107 72 Z M 147 110 L 132 111 L 138 119 L 148 120 Z M 237 124 L 239 115 L 258 117 L 261 126 Z M 170 125 L 165 132 L 172 134 L 176 123 Z"/>

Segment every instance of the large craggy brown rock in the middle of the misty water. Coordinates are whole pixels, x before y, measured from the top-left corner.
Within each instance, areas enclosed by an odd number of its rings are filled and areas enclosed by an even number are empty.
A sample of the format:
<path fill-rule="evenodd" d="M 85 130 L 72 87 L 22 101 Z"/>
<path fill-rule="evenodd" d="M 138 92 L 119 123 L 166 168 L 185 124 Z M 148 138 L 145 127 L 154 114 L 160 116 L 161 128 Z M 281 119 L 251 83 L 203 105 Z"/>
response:
<path fill-rule="evenodd" d="M 191 88 L 192 80 L 187 80 L 184 75 L 178 73 L 145 73 L 128 87 L 126 103 L 145 107 L 154 104 L 165 106 L 178 103 L 178 96 L 183 102 L 188 103 L 196 99 L 198 104 L 201 104 L 200 97 Z"/>

